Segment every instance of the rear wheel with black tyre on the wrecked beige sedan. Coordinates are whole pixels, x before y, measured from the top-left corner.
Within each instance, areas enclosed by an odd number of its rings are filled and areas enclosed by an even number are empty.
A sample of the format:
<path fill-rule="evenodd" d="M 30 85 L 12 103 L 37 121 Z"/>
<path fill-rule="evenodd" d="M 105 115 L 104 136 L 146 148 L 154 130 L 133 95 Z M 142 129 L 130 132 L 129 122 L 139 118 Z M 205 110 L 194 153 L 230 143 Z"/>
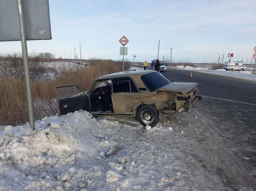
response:
<path fill-rule="evenodd" d="M 139 108 L 137 118 L 143 126 L 153 127 L 159 122 L 158 110 L 154 106 L 144 105 Z"/>

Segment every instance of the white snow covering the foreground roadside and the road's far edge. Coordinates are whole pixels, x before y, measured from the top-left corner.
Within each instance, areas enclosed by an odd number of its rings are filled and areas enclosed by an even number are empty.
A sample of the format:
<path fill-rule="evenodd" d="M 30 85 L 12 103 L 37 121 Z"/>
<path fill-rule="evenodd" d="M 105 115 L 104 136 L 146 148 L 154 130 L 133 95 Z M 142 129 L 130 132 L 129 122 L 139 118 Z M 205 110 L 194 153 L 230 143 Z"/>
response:
<path fill-rule="evenodd" d="M 247 71 L 176 69 L 256 81 Z M 35 131 L 28 123 L 0 126 L 0 190 L 230 190 L 180 150 L 201 120 L 193 111 L 150 128 L 133 117 L 76 111 L 38 120 Z"/>

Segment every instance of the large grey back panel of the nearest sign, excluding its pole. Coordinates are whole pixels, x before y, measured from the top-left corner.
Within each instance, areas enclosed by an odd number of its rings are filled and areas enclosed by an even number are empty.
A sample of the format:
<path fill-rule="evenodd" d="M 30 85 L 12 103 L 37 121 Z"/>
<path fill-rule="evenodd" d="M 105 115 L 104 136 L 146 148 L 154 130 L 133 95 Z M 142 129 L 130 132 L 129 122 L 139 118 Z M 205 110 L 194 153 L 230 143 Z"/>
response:
<path fill-rule="evenodd" d="M 49 0 L 23 0 L 26 40 L 50 40 Z M 0 41 L 21 41 L 18 3 L 0 0 Z"/>

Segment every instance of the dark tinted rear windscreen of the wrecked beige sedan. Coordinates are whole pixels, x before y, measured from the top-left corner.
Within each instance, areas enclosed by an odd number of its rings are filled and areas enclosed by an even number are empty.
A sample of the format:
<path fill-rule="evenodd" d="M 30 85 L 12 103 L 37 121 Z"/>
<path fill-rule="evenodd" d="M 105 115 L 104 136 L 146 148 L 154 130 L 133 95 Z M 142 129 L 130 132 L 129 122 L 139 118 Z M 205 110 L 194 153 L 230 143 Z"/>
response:
<path fill-rule="evenodd" d="M 167 80 L 160 72 L 148 73 L 141 76 L 141 80 L 149 89 L 150 92 L 153 92 L 160 87 L 163 87 L 171 82 Z"/>

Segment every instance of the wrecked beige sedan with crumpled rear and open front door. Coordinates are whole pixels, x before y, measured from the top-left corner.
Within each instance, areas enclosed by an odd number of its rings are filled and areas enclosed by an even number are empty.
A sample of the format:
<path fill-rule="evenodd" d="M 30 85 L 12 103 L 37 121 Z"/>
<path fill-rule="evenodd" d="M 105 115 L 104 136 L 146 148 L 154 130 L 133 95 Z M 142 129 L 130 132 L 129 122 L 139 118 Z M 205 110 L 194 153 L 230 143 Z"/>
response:
<path fill-rule="evenodd" d="M 197 83 L 170 82 L 153 70 L 108 74 L 97 78 L 87 92 L 76 84 L 56 90 L 59 116 L 82 109 L 92 115 L 132 115 L 152 127 L 161 113 L 191 112 L 201 100 Z"/>

